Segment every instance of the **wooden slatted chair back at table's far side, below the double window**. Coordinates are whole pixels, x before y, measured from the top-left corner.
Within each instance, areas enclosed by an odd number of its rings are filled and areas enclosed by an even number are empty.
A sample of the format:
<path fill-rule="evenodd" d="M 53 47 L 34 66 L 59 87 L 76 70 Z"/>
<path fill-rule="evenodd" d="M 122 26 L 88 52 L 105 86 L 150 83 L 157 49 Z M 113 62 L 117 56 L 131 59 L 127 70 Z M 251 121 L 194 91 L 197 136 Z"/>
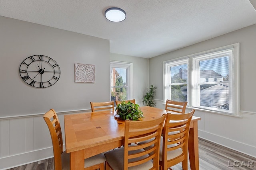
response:
<path fill-rule="evenodd" d="M 174 111 L 176 113 L 185 113 L 188 102 L 176 102 L 173 100 L 166 100 L 165 109 Z"/>

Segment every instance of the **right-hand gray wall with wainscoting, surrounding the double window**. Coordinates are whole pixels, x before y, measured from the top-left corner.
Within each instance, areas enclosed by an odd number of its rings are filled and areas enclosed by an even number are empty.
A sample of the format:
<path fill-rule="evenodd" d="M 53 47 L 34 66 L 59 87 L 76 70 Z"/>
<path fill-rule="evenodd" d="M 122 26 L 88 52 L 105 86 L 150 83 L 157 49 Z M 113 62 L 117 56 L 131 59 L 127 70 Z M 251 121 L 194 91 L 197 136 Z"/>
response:
<path fill-rule="evenodd" d="M 256 25 L 251 25 L 225 35 L 160 55 L 149 60 L 149 82 L 158 87 L 157 106 L 163 104 L 163 61 L 240 43 L 240 115 L 241 117 L 196 110 L 202 118 L 199 136 L 256 157 L 256 109 L 254 84 L 256 83 Z"/>

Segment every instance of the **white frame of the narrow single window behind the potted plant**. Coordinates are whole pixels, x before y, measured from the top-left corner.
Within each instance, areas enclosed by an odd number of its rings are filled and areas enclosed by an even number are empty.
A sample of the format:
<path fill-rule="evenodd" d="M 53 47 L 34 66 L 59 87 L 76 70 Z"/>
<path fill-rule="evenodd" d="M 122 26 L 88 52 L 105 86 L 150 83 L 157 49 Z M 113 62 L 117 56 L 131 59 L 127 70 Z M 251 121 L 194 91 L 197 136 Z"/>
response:
<path fill-rule="evenodd" d="M 127 88 L 127 100 L 131 100 L 132 96 L 133 96 L 133 84 L 132 84 L 132 63 L 127 63 L 127 62 L 121 62 L 121 61 L 110 61 L 110 100 L 111 100 L 111 88 L 113 88 L 113 86 L 111 86 L 111 68 L 112 67 L 118 67 L 118 68 L 126 68 L 127 72 L 126 72 L 126 76 L 127 76 L 127 80 L 126 80 L 126 85 L 124 86 L 125 88 Z"/>

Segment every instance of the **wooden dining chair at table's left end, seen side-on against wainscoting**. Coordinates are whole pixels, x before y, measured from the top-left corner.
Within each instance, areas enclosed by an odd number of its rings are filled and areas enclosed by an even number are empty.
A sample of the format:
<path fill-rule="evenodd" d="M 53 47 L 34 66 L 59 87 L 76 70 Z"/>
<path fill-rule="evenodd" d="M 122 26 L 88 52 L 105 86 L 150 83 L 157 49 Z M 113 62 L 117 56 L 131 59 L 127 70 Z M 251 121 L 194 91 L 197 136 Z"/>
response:
<path fill-rule="evenodd" d="M 52 138 L 54 168 L 55 170 L 69 170 L 70 154 L 63 152 L 63 139 L 60 128 L 60 121 L 55 110 L 50 109 L 43 115 L 43 118 L 48 125 L 48 129 Z M 105 161 L 106 157 L 103 153 L 87 158 L 84 160 L 84 170 L 104 170 Z"/>

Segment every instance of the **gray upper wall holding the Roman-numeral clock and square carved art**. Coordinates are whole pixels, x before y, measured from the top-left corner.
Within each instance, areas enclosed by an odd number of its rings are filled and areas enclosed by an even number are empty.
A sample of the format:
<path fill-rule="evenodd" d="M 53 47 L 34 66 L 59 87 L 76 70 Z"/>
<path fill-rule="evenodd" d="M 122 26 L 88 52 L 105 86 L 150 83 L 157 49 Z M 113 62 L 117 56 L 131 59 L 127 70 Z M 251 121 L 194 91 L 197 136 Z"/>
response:
<path fill-rule="evenodd" d="M 0 16 L 0 117 L 90 109 L 110 100 L 109 40 Z M 60 66 L 60 79 L 33 88 L 19 74 L 20 63 L 46 55 Z M 74 63 L 94 64 L 95 83 L 75 83 Z"/>

